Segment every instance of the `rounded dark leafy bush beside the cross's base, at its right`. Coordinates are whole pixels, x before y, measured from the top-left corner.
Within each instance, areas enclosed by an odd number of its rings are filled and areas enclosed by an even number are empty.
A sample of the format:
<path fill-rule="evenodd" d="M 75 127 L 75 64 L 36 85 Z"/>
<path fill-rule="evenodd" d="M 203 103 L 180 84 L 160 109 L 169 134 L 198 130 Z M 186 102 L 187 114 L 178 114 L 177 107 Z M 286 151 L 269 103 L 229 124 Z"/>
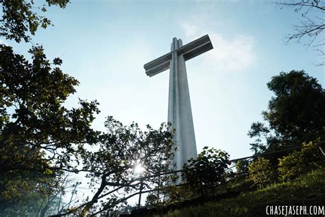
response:
<path fill-rule="evenodd" d="M 184 164 L 182 178 L 189 183 L 191 190 L 201 196 L 215 194 L 217 186 L 224 183 L 228 153 L 215 148 L 204 147 L 197 159 Z"/>

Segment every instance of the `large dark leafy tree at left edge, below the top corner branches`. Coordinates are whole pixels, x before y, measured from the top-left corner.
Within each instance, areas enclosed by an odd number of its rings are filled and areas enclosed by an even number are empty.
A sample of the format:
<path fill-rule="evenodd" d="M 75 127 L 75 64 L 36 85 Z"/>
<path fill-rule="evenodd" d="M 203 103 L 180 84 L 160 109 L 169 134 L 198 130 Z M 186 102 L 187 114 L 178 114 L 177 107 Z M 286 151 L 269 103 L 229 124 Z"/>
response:
<path fill-rule="evenodd" d="M 77 80 L 52 67 L 43 47 L 29 54 L 32 62 L 0 45 L 0 196 L 3 205 L 21 205 L 19 210 L 41 207 L 51 191 L 40 188 L 64 170 L 76 172 L 83 144 L 94 144 L 99 135 L 91 128 L 97 102 L 62 106 Z"/>

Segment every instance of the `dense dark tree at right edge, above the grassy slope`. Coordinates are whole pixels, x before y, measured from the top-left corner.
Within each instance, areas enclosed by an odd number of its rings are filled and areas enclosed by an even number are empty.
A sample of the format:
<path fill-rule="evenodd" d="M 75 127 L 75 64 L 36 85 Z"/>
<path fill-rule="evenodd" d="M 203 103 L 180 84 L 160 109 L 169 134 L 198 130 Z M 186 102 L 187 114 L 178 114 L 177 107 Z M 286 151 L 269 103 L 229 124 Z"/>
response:
<path fill-rule="evenodd" d="M 274 92 L 274 97 L 269 100 L 268 110 L 262 112 L 266 123 L 255 122 L 248 132 L 256 138 L 251 144 L 254 152 L 281 150 L 300 146 L 304 141 L 325 139 L 325 90 L 316 78 L 304 71 L 281 72 L 272 77 L 267 87 Z"/>

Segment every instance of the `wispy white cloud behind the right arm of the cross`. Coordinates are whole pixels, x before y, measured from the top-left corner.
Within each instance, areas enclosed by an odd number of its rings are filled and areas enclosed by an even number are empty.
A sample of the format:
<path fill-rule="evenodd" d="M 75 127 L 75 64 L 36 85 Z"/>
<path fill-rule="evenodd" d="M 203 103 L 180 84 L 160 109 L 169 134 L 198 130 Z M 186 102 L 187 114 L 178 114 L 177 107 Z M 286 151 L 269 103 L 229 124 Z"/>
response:
<path fill-rule="evenodd" d="M 211 28 L 189 23 L 182 23 L 181 28 L 190 40 L 204 34 L 210 36 L 214 49 L 204 54 L 205 64 L 210 67 L 217 67 L 221 71 L 241 71 L 256 62 L 255 41 L 252 36 L 237 34 L 228 38 Z"/>

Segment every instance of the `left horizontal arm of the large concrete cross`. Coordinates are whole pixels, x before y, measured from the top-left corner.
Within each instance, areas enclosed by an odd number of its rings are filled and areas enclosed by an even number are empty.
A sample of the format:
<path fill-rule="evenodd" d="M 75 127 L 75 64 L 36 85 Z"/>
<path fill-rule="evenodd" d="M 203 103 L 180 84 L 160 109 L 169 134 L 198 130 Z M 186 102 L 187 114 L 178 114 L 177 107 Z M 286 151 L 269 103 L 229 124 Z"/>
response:
<path fill-rule="evenodd" d="M 145 68 L 145 73 L 147 76 L 152 77 L 156 74 L 169 69 L 171 60 L 171 52 L 165 54 L 164 56 L 160 56 L 156 58 L 156 60 L 152 60 L 148 62 L 143 67 Z"/>

